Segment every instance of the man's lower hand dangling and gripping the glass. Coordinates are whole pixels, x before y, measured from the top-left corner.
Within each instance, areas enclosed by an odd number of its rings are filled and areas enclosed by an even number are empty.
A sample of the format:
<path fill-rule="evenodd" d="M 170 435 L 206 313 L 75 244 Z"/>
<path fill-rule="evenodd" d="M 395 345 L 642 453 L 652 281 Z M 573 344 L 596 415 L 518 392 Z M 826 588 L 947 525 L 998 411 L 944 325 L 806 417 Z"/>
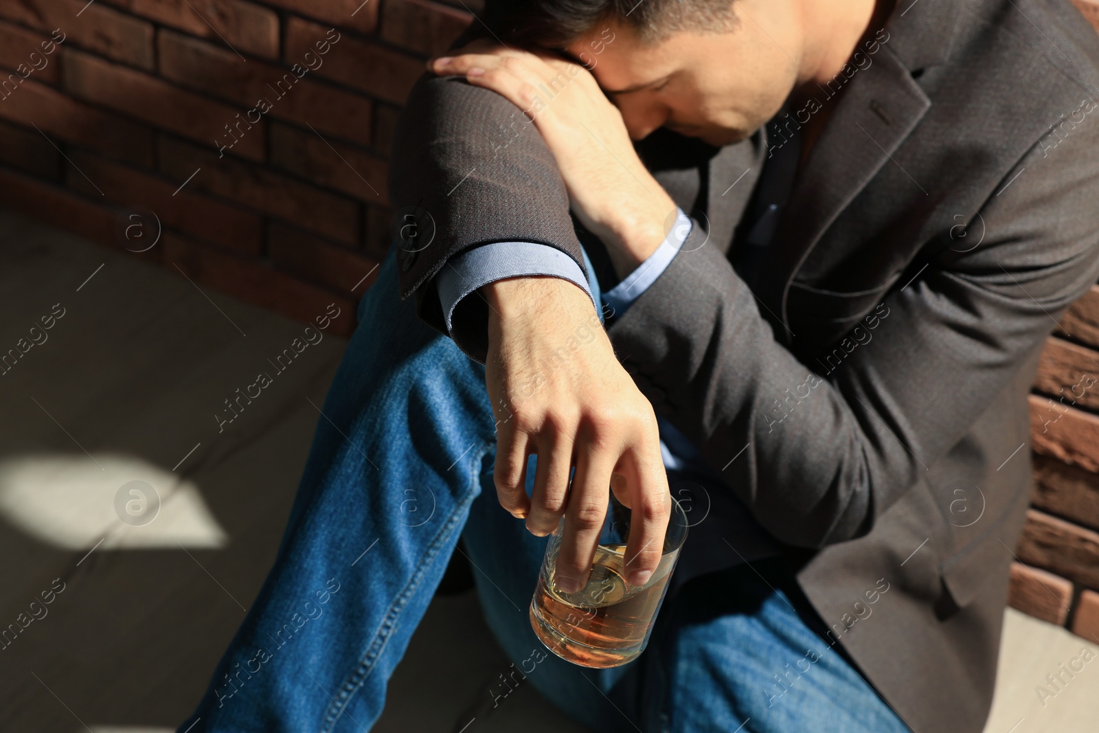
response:
<path fill-rule="evenodd" d="M 500 504 L 525 517 L 539 536 L 564 514 L 556 582 L 575 592 L 587 582 L 613 488 L 632 514 L 626 581 L 643 585 L 660 562 L 671 513 L 652 406 L 578 287 L 524 277 L 482 291 L 490 306 L 486 382 L 498 425 Z M 524 489 L 530 454 L 539 457 L 533 501 Z"/>

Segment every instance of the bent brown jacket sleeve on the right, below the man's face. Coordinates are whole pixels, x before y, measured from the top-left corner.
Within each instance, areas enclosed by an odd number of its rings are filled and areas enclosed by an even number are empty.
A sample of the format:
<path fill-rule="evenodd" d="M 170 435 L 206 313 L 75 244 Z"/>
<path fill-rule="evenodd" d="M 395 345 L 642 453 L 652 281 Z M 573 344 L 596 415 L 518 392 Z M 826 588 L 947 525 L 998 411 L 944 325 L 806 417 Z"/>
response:
<path fill-rule="evenodd" d="M 774 536 L 802 547 L 861 536 L 1099 277 L 1097 131 L 1063 142 L 1059 164 L 1033 147 L 1001 186 L 1025 174 L 981 207 L 984 241 L 928 243 L 926 268 L 898 278 L 829 371 L 795 358 L 726 258 L 690 241 L 611 341 Z"/>

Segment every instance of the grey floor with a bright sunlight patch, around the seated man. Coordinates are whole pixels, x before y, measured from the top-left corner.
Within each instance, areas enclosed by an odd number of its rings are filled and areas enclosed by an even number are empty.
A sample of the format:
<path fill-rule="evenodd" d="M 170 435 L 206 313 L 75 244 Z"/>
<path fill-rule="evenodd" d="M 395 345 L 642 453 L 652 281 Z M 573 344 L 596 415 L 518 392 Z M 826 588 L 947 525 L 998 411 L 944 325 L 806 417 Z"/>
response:
<path fill-rule="evenodd" d="M 0 652 L 0 732 L 169 733 L 263 582 L 345 342 L 219 432 L 302 324 L 3 210 L 0 309 L 0 353 L 64 313 L 0 376 L 0 629 L 40 617 Z M 1004 634 L 986 733 L 1099 730 L 1099 666 L 1044 706 L 1034 691 L 1099 645 L 1014 611 Z M 374 730 L 587 730 L 530 686 L 470 722 L 508 664 L 476 595 L 440 595 Z"/>

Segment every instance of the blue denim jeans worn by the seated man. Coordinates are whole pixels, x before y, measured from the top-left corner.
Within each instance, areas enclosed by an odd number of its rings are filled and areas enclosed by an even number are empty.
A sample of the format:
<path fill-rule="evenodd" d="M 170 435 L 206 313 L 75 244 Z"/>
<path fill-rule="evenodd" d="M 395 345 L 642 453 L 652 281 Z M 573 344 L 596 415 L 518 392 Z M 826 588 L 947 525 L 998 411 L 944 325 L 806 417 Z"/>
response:
<path fill-rule="evenodd" d="M 545 651 L 528 608 L 548 538 L 497 502 L 485 368 L 399 302 L 392 253 L 358 315 L 275 566 L 179 731 L 369 730 L 459 537 L 504 652 L 596 731 L 908 730 L 778 558 L 688 580 L 621 667 Z"/>

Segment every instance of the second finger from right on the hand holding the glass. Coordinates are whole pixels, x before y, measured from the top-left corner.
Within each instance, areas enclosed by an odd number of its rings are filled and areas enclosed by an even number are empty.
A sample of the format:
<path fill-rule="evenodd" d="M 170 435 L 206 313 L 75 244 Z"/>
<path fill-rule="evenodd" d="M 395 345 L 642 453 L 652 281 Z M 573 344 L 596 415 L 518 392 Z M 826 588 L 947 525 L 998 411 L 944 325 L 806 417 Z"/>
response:
<path fill-rule="evenodd" d="M 588 582 L 599 535 L 607 520 L 611 471 L 618 456 L 581 448 L 576 456 L 576 474 L 565 510 L 565 532 L 557 553 L 554 582 L 566 593 Z"/>

